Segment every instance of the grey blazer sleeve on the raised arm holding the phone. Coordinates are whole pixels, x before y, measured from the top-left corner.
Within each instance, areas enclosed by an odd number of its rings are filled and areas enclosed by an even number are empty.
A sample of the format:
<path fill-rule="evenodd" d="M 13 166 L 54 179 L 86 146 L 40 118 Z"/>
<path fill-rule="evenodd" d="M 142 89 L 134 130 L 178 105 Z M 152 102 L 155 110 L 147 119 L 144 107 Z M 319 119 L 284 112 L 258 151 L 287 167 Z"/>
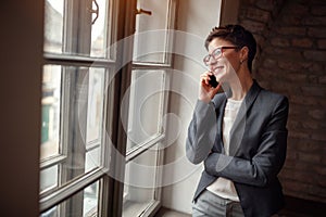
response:
<path fill-rule="evenodd" d="M 197 101 L 186 140 L 187 158 L 199 164 L 205 159 L 214 144 L 217 127 L 213 102 Z"/>

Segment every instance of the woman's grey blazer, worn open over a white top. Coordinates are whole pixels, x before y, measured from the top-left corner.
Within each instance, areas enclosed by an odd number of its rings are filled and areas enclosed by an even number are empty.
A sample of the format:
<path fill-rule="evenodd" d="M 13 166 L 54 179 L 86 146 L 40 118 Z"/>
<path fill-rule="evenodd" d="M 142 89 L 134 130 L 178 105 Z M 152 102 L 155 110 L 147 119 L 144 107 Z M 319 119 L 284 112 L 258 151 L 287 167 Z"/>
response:
<path fill-rule="evenodd" d="M 288 99 L 254 81 L 231 128 L 229 155 L 222 139 L 226 101 L 226 94 L 218 93 L 209 104 L 196 104 L 186 154 L 193 164 L 203 162 L 204 170 L 193 200 L 224 177 L 234 181 L 246 216 L 272 216 L 284 206 L 277 174 L 286 158 Z"/>

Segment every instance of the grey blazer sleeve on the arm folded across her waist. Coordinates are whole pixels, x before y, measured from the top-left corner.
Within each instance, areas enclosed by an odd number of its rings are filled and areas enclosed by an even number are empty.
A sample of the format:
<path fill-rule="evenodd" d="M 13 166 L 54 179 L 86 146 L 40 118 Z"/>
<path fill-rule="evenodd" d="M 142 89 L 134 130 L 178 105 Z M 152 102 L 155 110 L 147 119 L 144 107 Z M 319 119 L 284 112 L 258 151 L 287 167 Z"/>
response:
<path fill-rule="evenodd" d="M 206 173 L 235 182 L 259 187 L 273 181 L 286 158 L 288 106 L 287 98 L 284 97 L 278 101 L 252 158 L 244 159 L 211 153 L 204 162 Z"/>

